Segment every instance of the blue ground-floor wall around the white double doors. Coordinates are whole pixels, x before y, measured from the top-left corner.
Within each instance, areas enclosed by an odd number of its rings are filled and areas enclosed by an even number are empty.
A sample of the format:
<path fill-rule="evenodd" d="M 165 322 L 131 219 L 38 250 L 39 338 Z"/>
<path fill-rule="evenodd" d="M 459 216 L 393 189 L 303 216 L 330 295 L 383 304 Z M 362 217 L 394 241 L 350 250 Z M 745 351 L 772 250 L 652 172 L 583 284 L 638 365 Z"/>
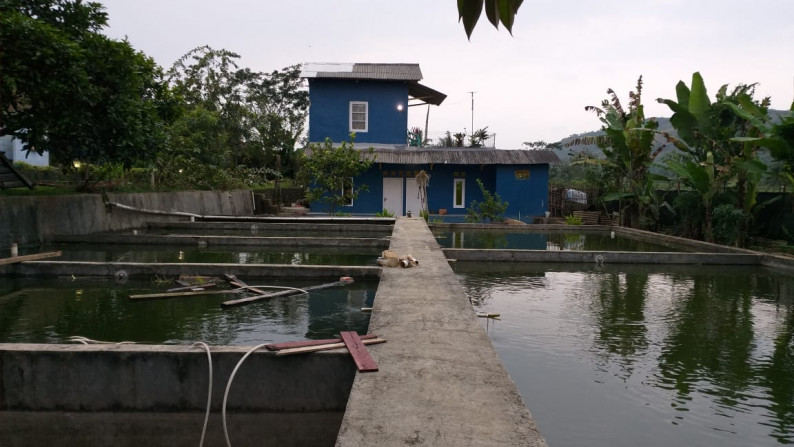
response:
<path fill-rule="evenodd" d="M 466 179 L 465 205 L 472 200 L 482 201 L 483 196 L 477 179 L 482 180 L 485 189 L 499 194 L 509 203 L 505 217 L 521 218 L 543 216 L 548 209 L 548 165 L 390 165 L 374 163 L 364 174 L 356 178 L 356 185 L 366 184 L 368 191 L 362 192 L 351 207 L 340 207 L 338 211 L 352 214 L 375 214 L 383 207 L 383 177 L 401 177 L 404 181 L 414 181 L 414 172 L 424 169 L 430 174 L 427 188 L 428 209 L 431 214 L 446 209 L 448 215 L 465 215 L 466 208 L 455 208 L 454 179 Z M 529 179 L 515 178 L 516 169 L 529 170 Z M 405 202 L 403 184 L 403 203 Z M 328 212 L 321 203 L 311 204 L 312 212 Z M 524 219 L 526 220 L 526 219 Z"/>

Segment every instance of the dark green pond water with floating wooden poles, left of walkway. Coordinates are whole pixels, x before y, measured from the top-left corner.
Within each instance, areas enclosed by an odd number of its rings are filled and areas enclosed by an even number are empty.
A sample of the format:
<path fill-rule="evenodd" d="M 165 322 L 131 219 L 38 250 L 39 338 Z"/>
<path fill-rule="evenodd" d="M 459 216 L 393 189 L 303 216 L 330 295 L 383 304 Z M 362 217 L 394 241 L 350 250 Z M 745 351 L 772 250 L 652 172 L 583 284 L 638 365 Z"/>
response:
<path fill-rule="evenodd" d="M 305 287 L 332 281 L 273 281 Z M 248 281 L 250 285 L 264 282 Z M 154 344 L 256 345 L 333 338 L 339 331 L 365 334 L 377 281 L 317 290 L 222 309 L 237 295 L 204 295 L 130 301 L 131 294 L 177 287 L 162 281 L 14 279 L 0 281 L 0 343 L 65 343 L 70 336 Z"/>

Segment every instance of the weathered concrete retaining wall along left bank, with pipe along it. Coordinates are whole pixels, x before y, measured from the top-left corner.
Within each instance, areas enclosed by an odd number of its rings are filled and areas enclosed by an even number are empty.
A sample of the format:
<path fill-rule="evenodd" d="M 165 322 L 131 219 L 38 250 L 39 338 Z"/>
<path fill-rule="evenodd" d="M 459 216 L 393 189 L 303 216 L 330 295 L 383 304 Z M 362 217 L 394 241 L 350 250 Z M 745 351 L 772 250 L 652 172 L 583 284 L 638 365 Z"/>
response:
<path fill-rule="evenodd" d="M 106 201 L 201 215 L 254 214 L 253 195 L 248 190 L 0 197 L 0 253 L 7 252 L 11 243 L 36 245 L 52 235 L 118 231 L 140 228 L 151 221 L 187 220 L 109 207 Z"/>

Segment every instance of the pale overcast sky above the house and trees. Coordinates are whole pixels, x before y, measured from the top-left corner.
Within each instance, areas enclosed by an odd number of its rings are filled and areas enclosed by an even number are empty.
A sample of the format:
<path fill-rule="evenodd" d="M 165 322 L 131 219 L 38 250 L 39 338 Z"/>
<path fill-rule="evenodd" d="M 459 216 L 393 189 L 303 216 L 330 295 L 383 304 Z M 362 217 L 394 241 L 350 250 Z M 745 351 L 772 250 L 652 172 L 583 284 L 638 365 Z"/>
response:
<path fill-rule="evenodd" d="M 513 36 L 481 17 L 471 41 L 454 0 L 97 0 L 105 33 L 165 68 L 209 45 L 269 72 L 303 62 L 418 63 L 428 87 L 430 136 L 488 126 L 496 145 L 558 141 L 596 130 L 586 105 L 607 88 L 624 103 L 639 75 L 647 116 L 670 116 L 656 98 L 700 71 L 709 95 L 759 85 L 756 98 L 794 99 L 794 0 L 525 0 Z M 409 126 L 424 127 L 427 106 Z"/>

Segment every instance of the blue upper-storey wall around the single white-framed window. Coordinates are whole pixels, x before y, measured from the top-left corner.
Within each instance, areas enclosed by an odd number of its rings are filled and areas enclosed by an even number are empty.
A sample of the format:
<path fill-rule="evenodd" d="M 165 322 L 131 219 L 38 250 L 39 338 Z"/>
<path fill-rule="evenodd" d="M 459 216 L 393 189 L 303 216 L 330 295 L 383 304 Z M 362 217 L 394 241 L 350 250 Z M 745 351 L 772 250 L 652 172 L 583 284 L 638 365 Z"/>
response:
<path fill-rule="evenodd" d="M 309 141 L 339 143 L 350 136 L 350 101 L 368 103 L 367 132 L 360 143 L 406 144 L 408 86 L 401 81 L 309 78 Z M 402 104 L 403 110 L 397 110 Z"/>

